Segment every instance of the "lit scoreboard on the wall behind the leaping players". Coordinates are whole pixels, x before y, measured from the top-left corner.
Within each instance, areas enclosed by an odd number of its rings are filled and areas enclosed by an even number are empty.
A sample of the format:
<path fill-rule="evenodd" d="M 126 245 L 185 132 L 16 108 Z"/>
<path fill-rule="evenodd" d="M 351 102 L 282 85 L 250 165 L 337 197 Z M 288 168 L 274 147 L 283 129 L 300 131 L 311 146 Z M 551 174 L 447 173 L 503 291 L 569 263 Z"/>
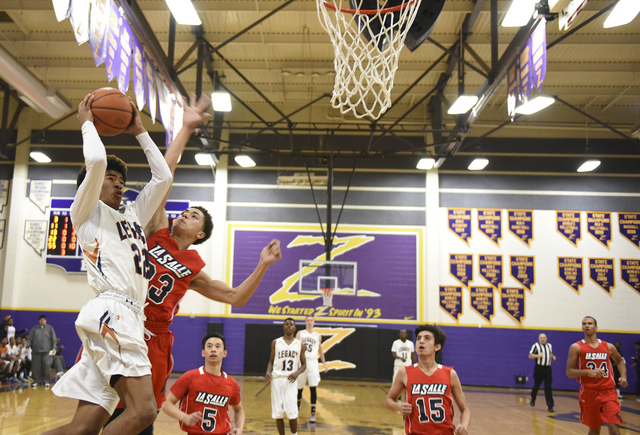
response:
<path fill-rule="evenodd" d="M 126 189 L 123 203 L 135 200 L 138 192 Z M 71 224 L 71 204 L 73 198 L 52 198 L 49 210 L 49 234 L 47 237 L 47 264 L 58 266 L 67 273 L 85 273 L 87 267 L 82 258 L 82 248 Z M 169 228 L 183 210 L 189 208 L 189 201 L 167 201 L 165 209 L 169 218 Z"/>

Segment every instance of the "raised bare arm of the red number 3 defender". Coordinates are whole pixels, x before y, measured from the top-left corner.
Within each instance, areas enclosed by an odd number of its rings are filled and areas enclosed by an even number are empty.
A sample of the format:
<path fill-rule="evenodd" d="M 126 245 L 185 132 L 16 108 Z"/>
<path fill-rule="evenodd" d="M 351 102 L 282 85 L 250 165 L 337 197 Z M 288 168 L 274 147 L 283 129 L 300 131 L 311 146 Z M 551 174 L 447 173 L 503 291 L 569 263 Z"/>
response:
<path fill-rule="evenodd" d="M 191 94 L 189 102 L 184 107 L 182 128 L 176 135 L 175 139 L 171 142 L 171 145 L 169 145 L 169 148 L 167 148 L 167 152 L 164 154 L 164 159 L 169 166 L 171 175 L 175 173 L 176 167 L 178 166 L 178 160 L 180 160 L 180 156 L 182 155 L 184 148 L 187 146 L 193 131 L 207 118 L 211 117 L 211 115 L 207 113 L 207 109 L 210 104 L 211 100 L 206 95 L 202 94 L 199 99 L 196 99 L 196 95 Z M 169 219 L 167 218 L 167 212 L 164 207 L 167 204 L 170 193 L 171 188 L 167 190 L 162 203 L 154 213 L 151 221 L 149 221 L 147 226 L 144 228 L 144 233 L 147 237 L 150 237 L 158 230 L 169 228 Z"/>

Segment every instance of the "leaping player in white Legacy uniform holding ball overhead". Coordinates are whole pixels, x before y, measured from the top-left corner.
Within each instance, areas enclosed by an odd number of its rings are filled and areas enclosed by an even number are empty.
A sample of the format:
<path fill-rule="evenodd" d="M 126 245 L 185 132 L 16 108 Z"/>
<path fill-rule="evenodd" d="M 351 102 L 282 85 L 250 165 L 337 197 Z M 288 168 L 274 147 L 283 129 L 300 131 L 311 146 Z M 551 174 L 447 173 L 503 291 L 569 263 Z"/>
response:
<path fill-rule="evenodd" d="M 71 220 L 87 265 L 89 285 L 97 297 L 78 315 L 76 330 L 82 356 L 53 388 L 57 396 L 79 400 L 71 423 L 47 434 L 98 434 L 118 401 L 126 410 L 102 431 L 104 435 L 137 434 L 156 418 L 151 364 L 144 342 L 143 305 L 150 274 L 143 228 L 171 185 L 171 171 L 140 121 L 133 102 L 133 134 L 146 154 L 151 181 L 137 199 L 122 205 L 126 164 L 107 156 L 93 124 L 87 95 L 78 106 L 85 168 Z"/>

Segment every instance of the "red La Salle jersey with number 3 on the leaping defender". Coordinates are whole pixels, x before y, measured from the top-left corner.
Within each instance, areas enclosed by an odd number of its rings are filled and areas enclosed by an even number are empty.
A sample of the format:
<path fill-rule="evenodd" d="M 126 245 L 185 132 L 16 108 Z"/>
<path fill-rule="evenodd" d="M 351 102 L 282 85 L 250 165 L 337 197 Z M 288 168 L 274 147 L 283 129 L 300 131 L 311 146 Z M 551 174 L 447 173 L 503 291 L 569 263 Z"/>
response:
<path fill-rule="evenodd" d="M 189 283 L 205 264 L 198 251 L 181 250 L 169 228 L 156 231 L 147 239 L 147 246 L 155 273 L 149 280 L 144 314 L 149 321 L 171 323 Z"/>

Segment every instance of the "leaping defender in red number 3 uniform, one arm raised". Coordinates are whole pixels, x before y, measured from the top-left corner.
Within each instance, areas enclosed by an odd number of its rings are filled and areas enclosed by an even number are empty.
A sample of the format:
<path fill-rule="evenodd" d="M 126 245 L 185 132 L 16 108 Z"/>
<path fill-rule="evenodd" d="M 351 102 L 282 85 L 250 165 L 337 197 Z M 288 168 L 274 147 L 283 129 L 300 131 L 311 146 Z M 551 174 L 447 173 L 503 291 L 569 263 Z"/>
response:
<path fill-rule="evenodd" d="M 190 103 L 185 105 L 183 127 L 165 154 L 172 174 L 193 131 L 211 116 L 206 112 L 210 103 L 211 100 L 205 95 L 201 95 L 196 101 L 196 96 L 192 94 Z M 175 219 L 169 230 L 169 219 L 164 207 L 169 199 L 170 190 L 144 228 L 153 273 L 149 280 L 147 305 L 144 310 L 145 342 L 149 348 L 151 379 L 158 409 L 162 408 L 165 383 L 173 369 L 173 333 L 169 331 L 169 325 L 173 322 L 173 316 L 179 308 L 178 304 L 187 290 L 193 289 L 218 302 L 242 306 L 256 291 L 269 266 L 281 257 L 280 242 L 272 240 L 260 253 L 260 260 L 253 273 L 238 287 L 232 288 L 222 281 L 211 279 L 202 271 L 205 263 L 200 254 L 188 249 L 192 244 L 203 243 L 211 236 L 211 215 L 204 207 L 190 207 Z M 110 421 L 119 413 L 122 413 L 121 405 Z M 153 426 L 140 433 L 150 434 L 153 434 Z"/>

